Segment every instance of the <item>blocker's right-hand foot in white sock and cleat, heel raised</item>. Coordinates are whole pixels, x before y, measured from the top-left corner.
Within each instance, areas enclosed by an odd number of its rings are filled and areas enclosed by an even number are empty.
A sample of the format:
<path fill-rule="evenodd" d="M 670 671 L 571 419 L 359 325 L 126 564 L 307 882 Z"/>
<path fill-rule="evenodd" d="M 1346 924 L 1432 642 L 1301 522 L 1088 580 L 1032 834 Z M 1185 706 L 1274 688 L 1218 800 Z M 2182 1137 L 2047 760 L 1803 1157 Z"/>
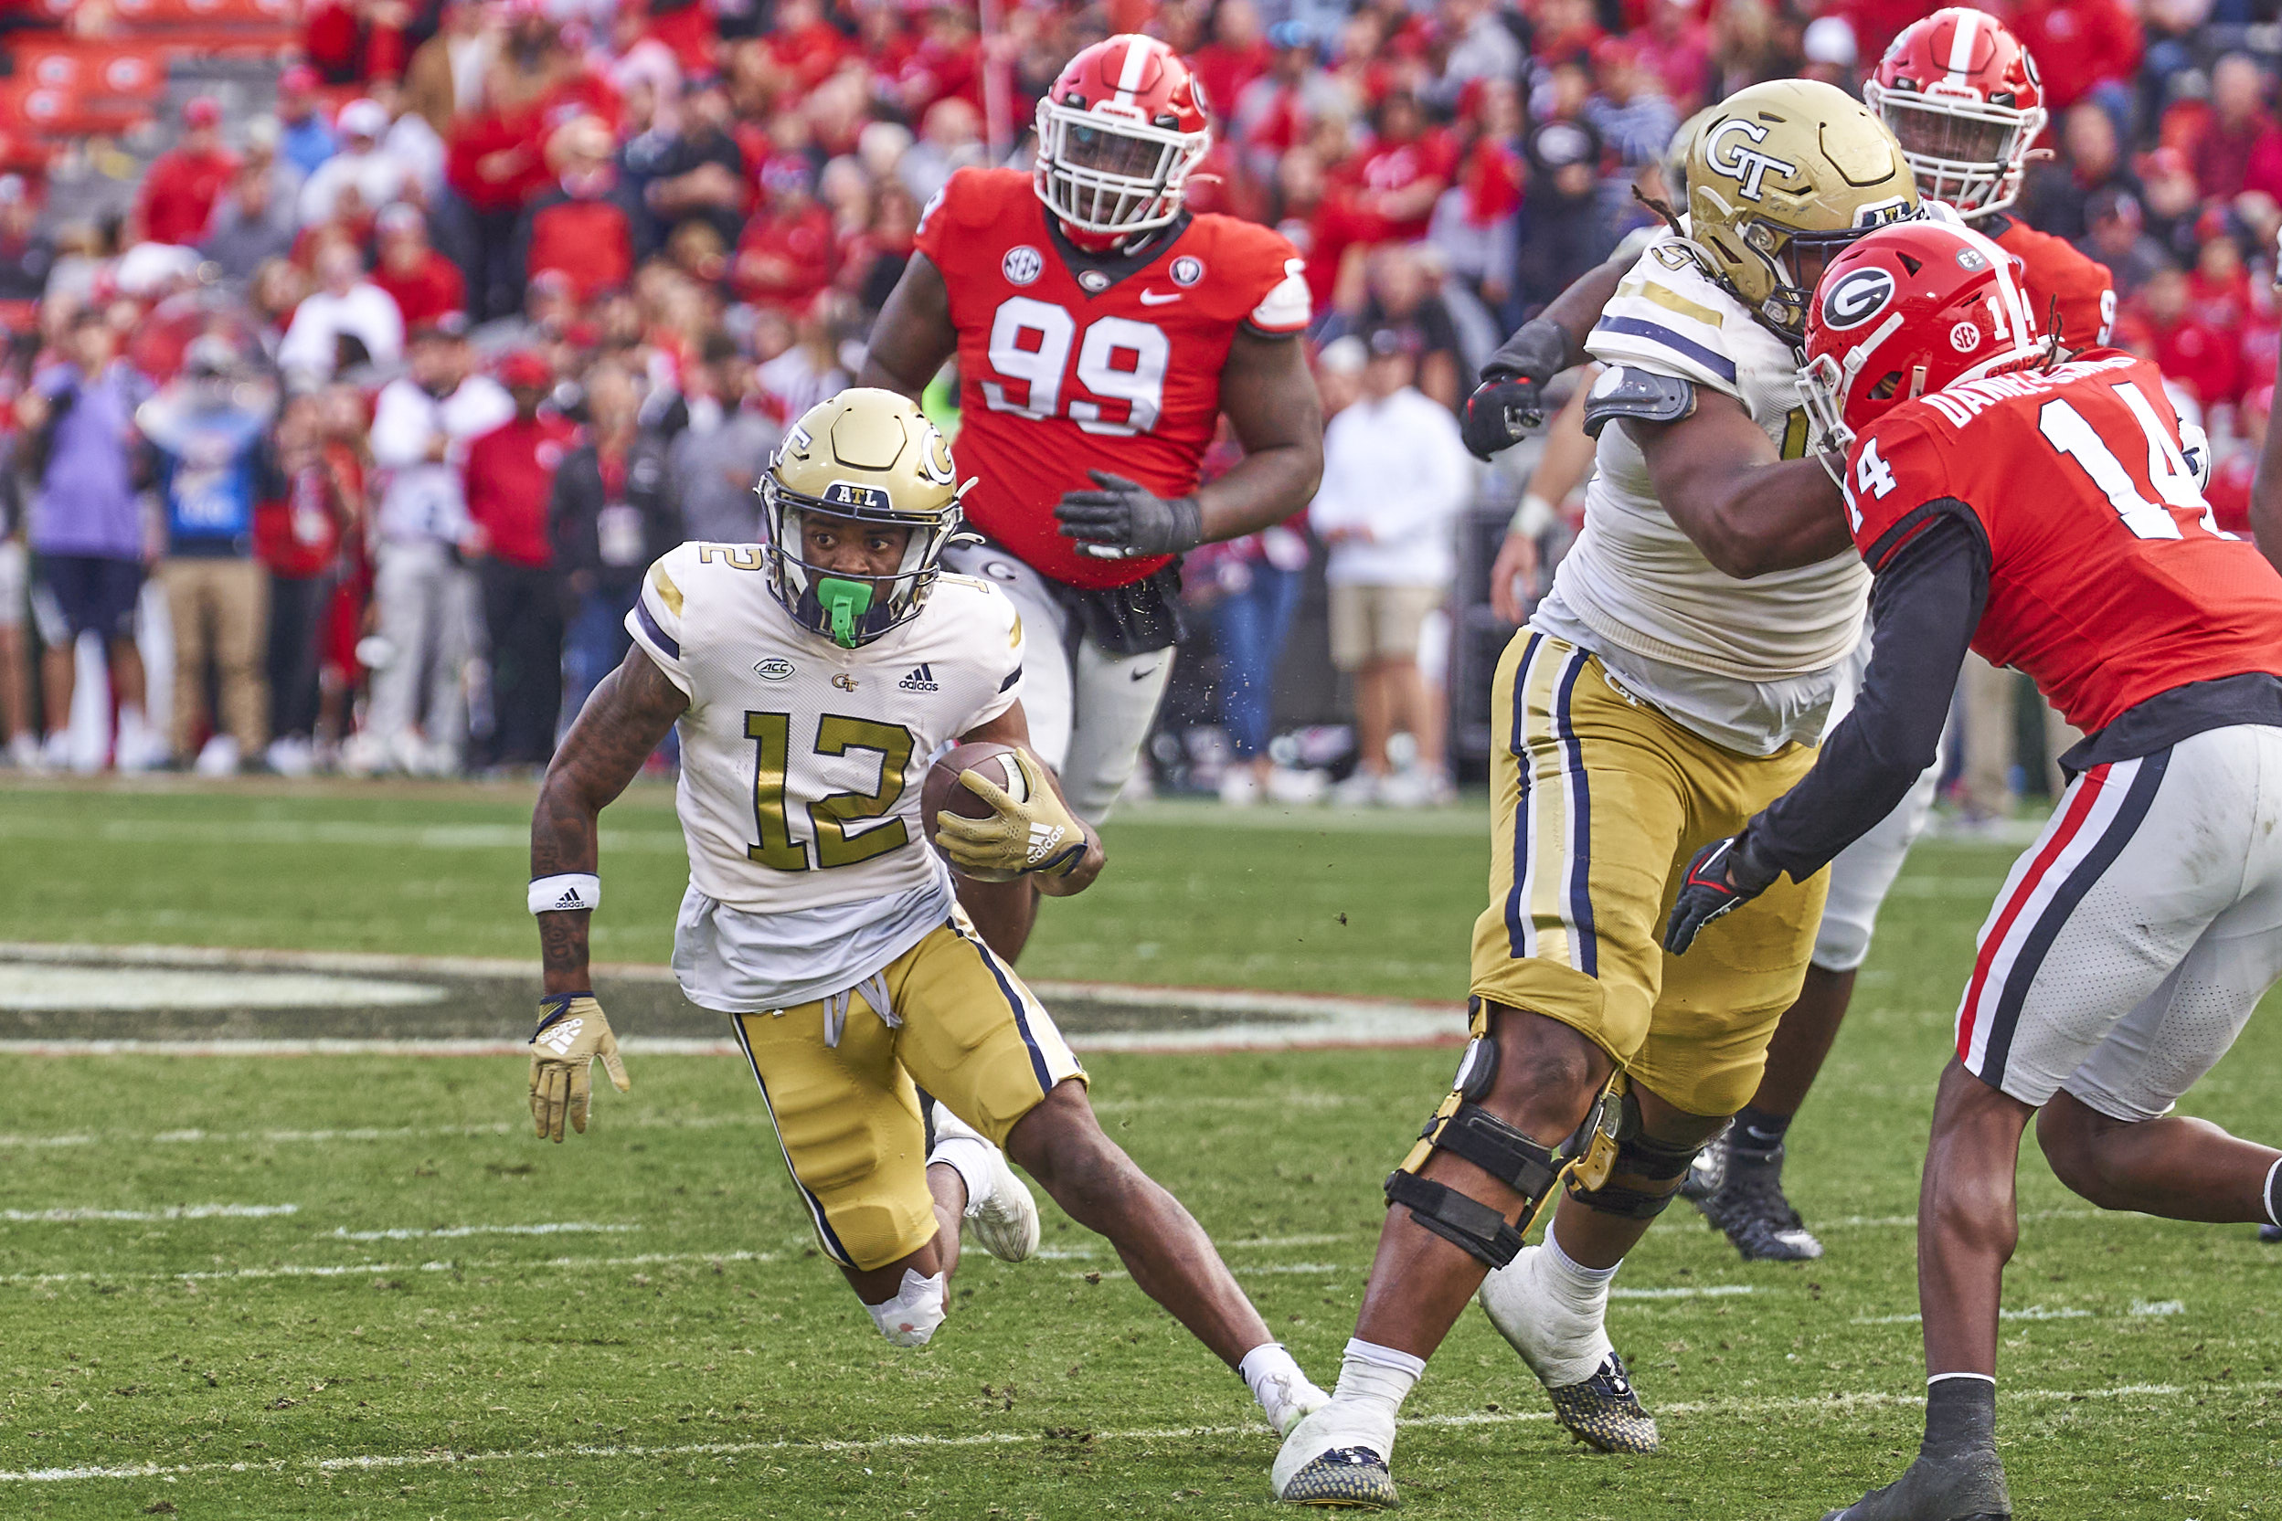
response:
<path fill-rule="evenodd" d="M 1474 1300 L 1545 1384 L 1570 1437 L 1597 1453 L 1654 1453 L 1657 1421 L 1641 1407 L 1602 1320 L 1607 1295 L 1579 1309 L 1547 1282 L 1543 1263 L 1545 1247 L 1522 1247 L 1481 1282 Z"/>

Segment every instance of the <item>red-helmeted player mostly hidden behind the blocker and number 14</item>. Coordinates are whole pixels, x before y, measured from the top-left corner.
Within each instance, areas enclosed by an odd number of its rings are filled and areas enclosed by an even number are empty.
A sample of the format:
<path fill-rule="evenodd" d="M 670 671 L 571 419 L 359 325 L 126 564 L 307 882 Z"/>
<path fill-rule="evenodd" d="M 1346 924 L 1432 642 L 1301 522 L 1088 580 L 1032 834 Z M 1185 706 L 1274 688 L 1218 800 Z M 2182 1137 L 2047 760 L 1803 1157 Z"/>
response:
<path fill-rule="evenodd" d="M 1862 100 L 1901 144 L 1917 194 L 1949 205 L 2022 260 L 2022 294 L 2047 337 L 2058 335 L 2067 349 L 2109 340 L 2115 285 L 2106 265 L 2006 212 L 2020 194 L 2029 146 L 2045 130 L 2045 91 L 2036 59 L 2004 23 L 1969 7 L 1910 23 L 1862 82 Z M 1821 1254 L 1782 1190 L 1785 1136 L 1830 1056 L 1878 908 L 1931 819 L 1933 787 L 1928 771 L 1880 828 L 1832 862 L 1814 962 L 1766 1049 L 1759 1092 L 1689 1179 L 1698 1206 L 1743 1256 Z"/>

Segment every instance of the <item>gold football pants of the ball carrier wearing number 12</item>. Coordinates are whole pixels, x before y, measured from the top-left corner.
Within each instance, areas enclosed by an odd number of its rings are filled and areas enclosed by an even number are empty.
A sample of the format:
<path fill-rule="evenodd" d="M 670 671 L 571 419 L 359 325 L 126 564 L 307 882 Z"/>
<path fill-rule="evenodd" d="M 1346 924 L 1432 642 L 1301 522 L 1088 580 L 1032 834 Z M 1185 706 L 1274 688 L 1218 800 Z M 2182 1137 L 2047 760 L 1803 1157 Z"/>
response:
<path fill-rule="evenodd" d="M 1057 1083 L 1086 1076 L 965 912 L 865 985 L 885 1010 L 849 992 L 837 1017 L 831 999 L 733 1015 L 817 1243 L 860 1270 L 936 1238 L 915 1085 L 1004 1145 Z"/>

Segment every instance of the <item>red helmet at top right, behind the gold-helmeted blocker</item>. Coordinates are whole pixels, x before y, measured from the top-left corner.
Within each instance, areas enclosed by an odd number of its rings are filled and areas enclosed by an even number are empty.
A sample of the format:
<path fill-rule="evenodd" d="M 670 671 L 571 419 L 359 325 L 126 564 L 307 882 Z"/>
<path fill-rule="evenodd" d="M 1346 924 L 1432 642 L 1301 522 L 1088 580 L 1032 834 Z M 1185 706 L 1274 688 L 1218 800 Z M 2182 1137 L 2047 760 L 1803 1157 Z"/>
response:
<path fill-rule="evenodd" d="M 1949 7 L 1912 21 L 1862 80 L 1917 192 L 1965 217 L 2013 205 L 2029 146 L 2045 130 L 2036 59 L 1988 11 Z"/>

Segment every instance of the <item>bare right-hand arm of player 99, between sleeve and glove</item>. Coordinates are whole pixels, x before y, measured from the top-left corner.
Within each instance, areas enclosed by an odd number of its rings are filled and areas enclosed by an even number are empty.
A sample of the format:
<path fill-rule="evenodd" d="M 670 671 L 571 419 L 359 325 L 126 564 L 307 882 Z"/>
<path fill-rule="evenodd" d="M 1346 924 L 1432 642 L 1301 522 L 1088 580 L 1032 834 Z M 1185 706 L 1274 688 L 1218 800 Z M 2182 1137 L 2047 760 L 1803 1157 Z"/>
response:
<path fill-rule="evenodd" d="M 1282 522 L 1324 479 L 1324 399 L 1298 337 L 1237 328 L 1221 365 L 1221 410 L 1244 458 L 1196 493 L 1207 545 Z"/>

